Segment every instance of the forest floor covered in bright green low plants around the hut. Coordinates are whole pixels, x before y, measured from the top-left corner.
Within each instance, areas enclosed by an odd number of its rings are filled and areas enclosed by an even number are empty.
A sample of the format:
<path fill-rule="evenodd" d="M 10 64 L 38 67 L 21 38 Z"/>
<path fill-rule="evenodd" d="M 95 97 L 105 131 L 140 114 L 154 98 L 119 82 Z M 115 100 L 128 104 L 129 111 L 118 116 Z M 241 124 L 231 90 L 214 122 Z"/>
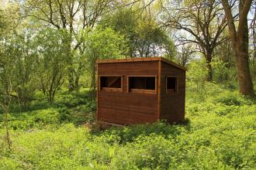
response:
<path fill-rule="evenodd" d="M 255 169 L 255 100 L 228 84 L 188 82 L 186 124 L 106 131 L 95 131 L 88 90 L 62 90 L 54 104 L 36 93 L 29 109 L 12 107 L 11 149 L 0 128 L 0 169 Z"/>

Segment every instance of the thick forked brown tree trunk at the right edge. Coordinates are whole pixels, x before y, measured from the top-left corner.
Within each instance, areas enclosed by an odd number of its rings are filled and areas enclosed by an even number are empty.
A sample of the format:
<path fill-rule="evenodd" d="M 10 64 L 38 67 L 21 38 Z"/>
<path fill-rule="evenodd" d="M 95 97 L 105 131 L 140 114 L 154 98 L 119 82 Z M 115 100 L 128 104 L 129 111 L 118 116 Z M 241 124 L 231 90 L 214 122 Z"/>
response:
<path fill-rule="evenodd" d="M 239 91 L 246 96 L 254 97 L 254 87 L 249 68 L 247 25 L 247 15 L 250 11 L 252 0 L 240 0 L 238 2 L 239 19 L 237 23 L 234 20 L 234 8 L 232 8 L 232 5 L 227 0 L 222 0 L 221 2 L 226 14 L 230 38 L 236 56 Z M 236 24 L 238 25 L 237 27 Z"/>

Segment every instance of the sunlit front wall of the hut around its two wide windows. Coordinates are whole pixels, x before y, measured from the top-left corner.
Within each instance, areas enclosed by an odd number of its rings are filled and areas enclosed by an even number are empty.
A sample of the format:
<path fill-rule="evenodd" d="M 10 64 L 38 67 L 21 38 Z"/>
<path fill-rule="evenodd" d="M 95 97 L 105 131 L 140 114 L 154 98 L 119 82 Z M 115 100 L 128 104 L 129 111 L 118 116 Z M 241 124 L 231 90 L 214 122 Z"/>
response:
<path fill-rule="evenodd" d="M 112 124 L 157 121 L 157 93 L 128 93 L 127 76 L 157 76 L 158 61 L 99 63 L 98 76 L 123 76 L 123 92 L 98 91 L 98 119 Z"/>

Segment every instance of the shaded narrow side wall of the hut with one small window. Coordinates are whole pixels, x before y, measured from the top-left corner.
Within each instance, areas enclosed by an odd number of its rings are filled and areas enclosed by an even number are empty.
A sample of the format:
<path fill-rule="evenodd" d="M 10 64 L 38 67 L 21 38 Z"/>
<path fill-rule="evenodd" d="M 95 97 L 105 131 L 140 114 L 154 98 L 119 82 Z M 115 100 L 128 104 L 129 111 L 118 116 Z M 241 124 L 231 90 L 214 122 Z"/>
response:
<path fill-rule="evenodd" d="M 177 93 L 166 93 L 166 76 L 178 77 Z M 185 70 L 161 62 L 160 118 L 169 123 L 185 119 Z"/>

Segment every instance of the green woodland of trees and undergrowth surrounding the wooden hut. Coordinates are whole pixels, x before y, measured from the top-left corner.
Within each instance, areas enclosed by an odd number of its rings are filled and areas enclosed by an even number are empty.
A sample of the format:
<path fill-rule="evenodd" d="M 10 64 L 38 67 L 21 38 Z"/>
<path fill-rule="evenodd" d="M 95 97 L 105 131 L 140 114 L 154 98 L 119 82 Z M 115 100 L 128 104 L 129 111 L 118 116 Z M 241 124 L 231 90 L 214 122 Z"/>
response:
<path fill-rule="evenodd" d="M 256 1 L 0 5 L 0 169 L 256 168 Z M 187 69 L 184 124 L 96 131 L 96 61 L 152 56 Z"/>

